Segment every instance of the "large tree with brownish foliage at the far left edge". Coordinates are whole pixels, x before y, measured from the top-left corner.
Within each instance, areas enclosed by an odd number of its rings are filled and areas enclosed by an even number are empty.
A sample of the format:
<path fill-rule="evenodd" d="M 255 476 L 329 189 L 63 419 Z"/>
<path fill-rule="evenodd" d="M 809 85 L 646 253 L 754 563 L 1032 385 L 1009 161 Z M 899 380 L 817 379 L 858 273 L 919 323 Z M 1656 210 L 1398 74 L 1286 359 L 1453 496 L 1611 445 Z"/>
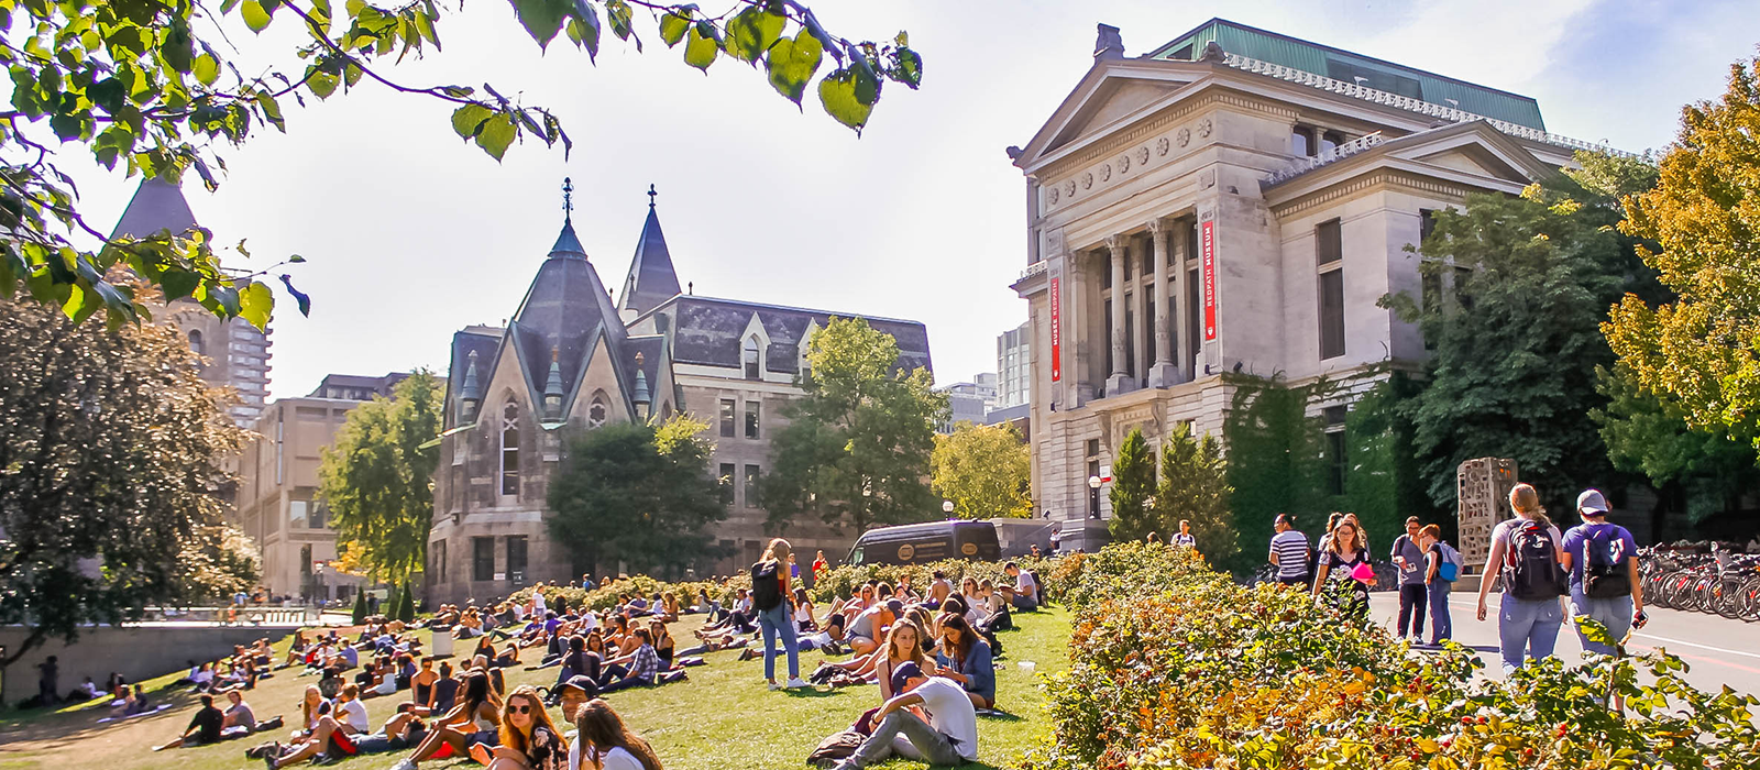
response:
<path fill-rule="evenodd" d="M 216 531 L 220 461 L 245 441 L 171 329 L 107 331 L 0 301 L 0 624 L 44 640 L 250 585 Z"/>

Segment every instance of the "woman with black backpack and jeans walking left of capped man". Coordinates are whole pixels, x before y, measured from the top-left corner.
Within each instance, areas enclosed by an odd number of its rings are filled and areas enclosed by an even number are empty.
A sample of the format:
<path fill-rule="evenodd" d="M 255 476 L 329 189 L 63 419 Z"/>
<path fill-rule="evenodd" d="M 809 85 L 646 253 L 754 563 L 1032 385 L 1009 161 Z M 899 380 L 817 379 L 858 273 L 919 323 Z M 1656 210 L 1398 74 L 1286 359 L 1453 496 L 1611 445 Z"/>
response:
<path fill-rule="evenodd" d="M 1522 656 L 1538 661 L 1552 657 L 1558 628 L 1565 622 L 1565 570 L 1558 527 L 1540 508 L 1540 492 L 1528 483 L 1510 490 L 1510 508 L 1515 519 L 1491 531 L 1491 554 L 1485 556 L 1485 575 L 1478 582 L 1478 619 L 1485 619 L 1485 598 L 1491 594 L 1492 570 L 1503 577 L 1503 599 L 1498 601 L 1498 640 L 1503 652 L 1503 673 L 1522 666 Z"/>

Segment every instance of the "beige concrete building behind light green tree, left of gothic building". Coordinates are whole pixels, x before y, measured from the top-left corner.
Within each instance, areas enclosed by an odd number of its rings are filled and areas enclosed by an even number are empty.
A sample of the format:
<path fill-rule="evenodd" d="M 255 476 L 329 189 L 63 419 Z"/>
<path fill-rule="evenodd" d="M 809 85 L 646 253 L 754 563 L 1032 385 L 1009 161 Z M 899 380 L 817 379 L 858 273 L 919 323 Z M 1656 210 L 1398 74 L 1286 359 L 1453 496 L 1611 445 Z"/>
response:
<path fill-rule="evenodd" d="M 361 578 L 326 566 L 336 559 L 336 531 L 317 501 L 319 461 L 354 410 L 391 389 L 407 373 L 329 374 L 312 396 L 275 399 L 250 429 L 238 468 L 234 522 L 262 556 L 262 585 L 276 596 L 347 599 Z"/>

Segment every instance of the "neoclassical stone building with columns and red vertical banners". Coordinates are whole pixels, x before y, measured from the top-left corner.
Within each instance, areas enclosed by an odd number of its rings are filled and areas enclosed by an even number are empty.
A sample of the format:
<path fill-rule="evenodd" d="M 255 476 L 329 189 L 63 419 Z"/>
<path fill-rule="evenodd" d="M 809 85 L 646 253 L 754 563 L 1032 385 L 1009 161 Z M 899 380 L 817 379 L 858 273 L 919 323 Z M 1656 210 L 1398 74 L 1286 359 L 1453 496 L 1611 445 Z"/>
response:
<path fill-rule="evenodd" d="M 1406 253 L 1429 213 L 1517 193 L 1588 142 L 1533 98 L 1211 19 L 1095 63 L 1024 148 L 1033 489 L 1044 515 L 1093 512 L 1089 476 L 1142 427 L 1220 432 L 1246 371 L 1348 378 L 1424 341 L 1376 308 L 1440 295 Z M 1431 283 L 1431 285 L 1426 285 Z M 1343 429 L 1346 404 L 1315 404 Z M 1105 490 L 1098 494 L 1102 515 Z"/>

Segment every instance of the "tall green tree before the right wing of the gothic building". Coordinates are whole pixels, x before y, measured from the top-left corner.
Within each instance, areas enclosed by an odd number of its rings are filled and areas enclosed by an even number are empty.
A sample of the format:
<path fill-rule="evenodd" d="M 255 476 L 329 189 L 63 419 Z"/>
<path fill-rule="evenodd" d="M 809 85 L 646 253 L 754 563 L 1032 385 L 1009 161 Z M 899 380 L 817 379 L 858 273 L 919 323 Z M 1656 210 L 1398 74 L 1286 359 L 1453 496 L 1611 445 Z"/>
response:
<path fill-rule="evenodd" d="M 831 318 L 806 360 L 804 396 L 788 404 L 760 480 L 769 526 L 810 515 L 862 531 L 940 517 L 928 482 L 947 394 L 929 371 L 899 367 L 898 341 L 861 318 Z"/>

